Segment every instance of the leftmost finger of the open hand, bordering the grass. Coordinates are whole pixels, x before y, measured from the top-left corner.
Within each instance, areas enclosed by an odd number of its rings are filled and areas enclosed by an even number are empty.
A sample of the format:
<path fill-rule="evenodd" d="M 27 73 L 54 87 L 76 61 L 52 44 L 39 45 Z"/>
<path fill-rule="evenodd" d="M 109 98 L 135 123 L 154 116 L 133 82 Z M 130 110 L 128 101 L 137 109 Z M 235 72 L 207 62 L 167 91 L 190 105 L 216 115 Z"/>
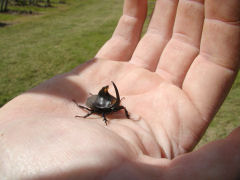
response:
<path fill-rule="evenodd" d="M 123 15 L 111 37 L 96 57 L 128 61 L 140 39 L 147 13 L 147 0 L 125 0 Z"/>

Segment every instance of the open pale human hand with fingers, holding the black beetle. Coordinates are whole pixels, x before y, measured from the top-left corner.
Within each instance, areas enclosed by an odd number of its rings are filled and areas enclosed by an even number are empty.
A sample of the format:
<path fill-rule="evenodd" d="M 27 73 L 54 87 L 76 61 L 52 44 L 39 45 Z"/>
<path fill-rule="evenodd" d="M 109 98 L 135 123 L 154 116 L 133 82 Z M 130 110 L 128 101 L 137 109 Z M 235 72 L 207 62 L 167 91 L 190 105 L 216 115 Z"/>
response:
<path fill-rule="evenodd" d="M 240 62 L 239 0 L 146 0 L 123 15 L 93 60 L 0 109 L 6 179 L 237 179 L 240 129 L 190 152 L 219 109 Z M 84 105 L 114 81 L 129 113 L 87 119 Z"/>

